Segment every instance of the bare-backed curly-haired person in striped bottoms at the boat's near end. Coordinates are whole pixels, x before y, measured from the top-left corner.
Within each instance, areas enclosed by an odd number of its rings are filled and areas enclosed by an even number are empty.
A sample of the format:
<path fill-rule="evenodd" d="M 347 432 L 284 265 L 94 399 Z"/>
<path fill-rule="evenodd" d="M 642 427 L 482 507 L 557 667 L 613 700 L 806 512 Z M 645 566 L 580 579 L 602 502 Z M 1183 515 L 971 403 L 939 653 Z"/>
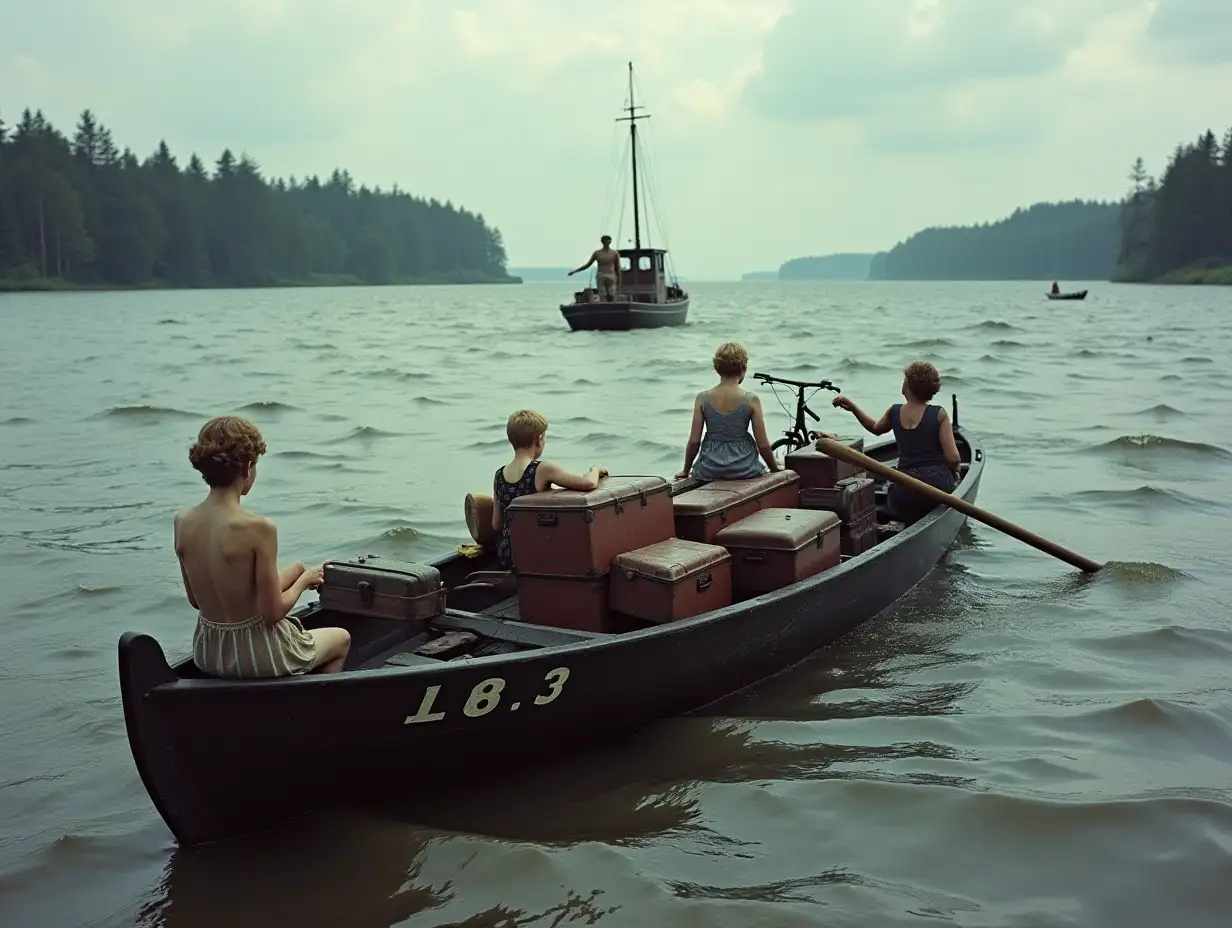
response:
<path fill-rule="evenodd" d="M 346 629 L 306 630 L 288 613 L 322 583 L 322 568 L 278 571 L 278 530 L 241 499 L 265 454 L 257 428 L 238 415 L 207 421 L 188 461 L 209 486 L 205 500 L 175 516 L 175 553 L 197 610 L 193 662 L 212 677 L 288 677 L 341 670 Z"/>

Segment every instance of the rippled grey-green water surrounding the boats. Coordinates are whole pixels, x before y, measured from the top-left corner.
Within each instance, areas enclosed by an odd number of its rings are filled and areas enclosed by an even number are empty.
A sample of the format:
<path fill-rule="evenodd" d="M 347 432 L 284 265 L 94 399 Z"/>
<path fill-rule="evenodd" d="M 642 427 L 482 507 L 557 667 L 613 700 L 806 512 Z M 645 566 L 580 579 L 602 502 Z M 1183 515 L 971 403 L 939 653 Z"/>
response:
<path fill-rule="evenodd" d="M 696 285 L 686 328 L 625 334 L 570 334 L 552 285 L 0 298 L 0 924 L 1226 926 L 1232 291 L 1045 286 Z M 187 649 L 171 518 L 207 417 L 265 431 L 248 504 L 283 561 L 429 558 L 515 408 L 569 466 L 679 470 L 727 339 L 878 413 L 933 360 L 978 502 L 1109 567 L 972 523 L 856 633 L 632 746 L 395 805 L 368 770 L 176 850 L 116 641 Z"/>

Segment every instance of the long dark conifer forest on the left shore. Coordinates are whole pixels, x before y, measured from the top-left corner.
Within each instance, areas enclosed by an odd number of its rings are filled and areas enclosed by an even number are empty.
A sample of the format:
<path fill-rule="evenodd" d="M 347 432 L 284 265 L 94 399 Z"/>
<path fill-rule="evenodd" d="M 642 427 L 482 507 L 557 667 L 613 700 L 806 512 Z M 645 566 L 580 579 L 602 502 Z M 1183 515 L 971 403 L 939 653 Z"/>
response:
<path fill-rule="evenodd" d="M 269 180 L 227 149 L 207 170 L 165 142 L 144 160 L 86 110 L 0 120 L 0 288 L 516 281 L 500 232 L 450 202 L 326 180 Z"/>

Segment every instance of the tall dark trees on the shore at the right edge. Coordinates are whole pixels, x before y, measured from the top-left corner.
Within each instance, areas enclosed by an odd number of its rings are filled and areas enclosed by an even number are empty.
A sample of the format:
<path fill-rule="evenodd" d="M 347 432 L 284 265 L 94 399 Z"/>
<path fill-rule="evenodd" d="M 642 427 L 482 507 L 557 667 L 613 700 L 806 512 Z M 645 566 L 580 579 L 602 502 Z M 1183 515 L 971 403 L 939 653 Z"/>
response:
<path fill-rule="evenodd" d="M 1158 180 L 1138 158 L 1130 184 L 1117 280 L 1232 283 L 1232 128 L 1177 145 Z"/>

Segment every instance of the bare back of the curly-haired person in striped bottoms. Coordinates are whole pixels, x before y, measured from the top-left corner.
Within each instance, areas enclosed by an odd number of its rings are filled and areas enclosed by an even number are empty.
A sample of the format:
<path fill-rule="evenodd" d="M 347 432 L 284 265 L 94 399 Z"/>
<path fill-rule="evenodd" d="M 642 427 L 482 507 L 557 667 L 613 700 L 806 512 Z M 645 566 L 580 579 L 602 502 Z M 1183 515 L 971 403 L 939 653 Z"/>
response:
<path fill-rule="evenodd" d="M 175 553 L 201 615 L 214 622 L 255 616 L 257 530 L 265 520 L 241 507 L 206 500 L 175 518 Z"/>

